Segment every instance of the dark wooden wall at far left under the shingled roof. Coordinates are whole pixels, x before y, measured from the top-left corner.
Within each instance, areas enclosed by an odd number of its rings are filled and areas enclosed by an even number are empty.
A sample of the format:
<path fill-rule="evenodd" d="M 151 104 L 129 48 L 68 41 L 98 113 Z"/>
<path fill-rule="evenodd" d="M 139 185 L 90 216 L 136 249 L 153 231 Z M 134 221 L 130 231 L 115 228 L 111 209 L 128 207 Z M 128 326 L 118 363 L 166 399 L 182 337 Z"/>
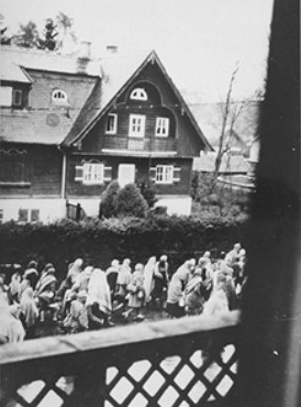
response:
<path fill-rule="evenodd" d="M 62 153 L 54 146 L 2 144 L 2 150 L 18 150 L 16 157 L 23 174 L 1 178 L 0 197 L 59 197 L 62 184 Z M 3 164 L 3 161 L 1 160 Z M 1 166 L 0 163 L 0 166 Z M 18 168 L 18 165 L 15 166 Z M 12 169 L 13 170 L 13 169 Z M 16 169 L 18 170 L 18 169 Z"/>

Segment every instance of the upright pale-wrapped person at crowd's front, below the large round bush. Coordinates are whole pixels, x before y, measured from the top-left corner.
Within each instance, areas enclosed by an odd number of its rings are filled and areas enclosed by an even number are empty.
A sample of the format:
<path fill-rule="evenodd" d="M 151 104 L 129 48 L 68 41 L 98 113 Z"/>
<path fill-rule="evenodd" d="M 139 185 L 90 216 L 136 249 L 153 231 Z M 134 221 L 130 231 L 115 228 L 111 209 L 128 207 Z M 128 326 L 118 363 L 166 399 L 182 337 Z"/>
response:
<path fill-rule="evenodd" d="M 123 312 L 123 317 L 127 319 L 131 314 L 134 314 L 134 320 L 142 321 L 144 316 L 141 309 L 145 301 L 145 285 L 143 264 L 137 263 L 135 270 L 131 275 L 130 284 L 127 285 L 129 295 L 129 309 Z"/>

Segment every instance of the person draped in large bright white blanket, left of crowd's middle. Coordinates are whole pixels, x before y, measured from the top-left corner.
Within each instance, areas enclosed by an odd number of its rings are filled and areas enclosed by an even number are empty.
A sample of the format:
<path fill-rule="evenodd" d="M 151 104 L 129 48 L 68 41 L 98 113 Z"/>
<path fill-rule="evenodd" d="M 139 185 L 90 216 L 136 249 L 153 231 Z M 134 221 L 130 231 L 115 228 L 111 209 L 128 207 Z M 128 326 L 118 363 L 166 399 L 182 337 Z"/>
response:
<path fill-rule="evenodd" d="M 105 272 L 94 268 L 88 285 L 87 312 L 89 329 L 113 326 L 110 320 L 112 304 Z"/>

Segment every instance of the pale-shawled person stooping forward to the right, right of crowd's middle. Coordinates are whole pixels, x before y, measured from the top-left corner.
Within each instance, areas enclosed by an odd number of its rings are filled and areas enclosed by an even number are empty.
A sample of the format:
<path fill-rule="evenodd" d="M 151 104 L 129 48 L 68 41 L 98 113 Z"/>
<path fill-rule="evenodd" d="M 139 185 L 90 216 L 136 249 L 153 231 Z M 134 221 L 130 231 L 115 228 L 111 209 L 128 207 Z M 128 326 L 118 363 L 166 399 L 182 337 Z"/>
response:
<path fill-rule="evenodd" d="M 193 258 L 186 261 L 172 275 L 167 290 L 166 311 L 171 318 L 185 316 L 183 294 L 187 283 L 192 277 L 196 261 Z"/>

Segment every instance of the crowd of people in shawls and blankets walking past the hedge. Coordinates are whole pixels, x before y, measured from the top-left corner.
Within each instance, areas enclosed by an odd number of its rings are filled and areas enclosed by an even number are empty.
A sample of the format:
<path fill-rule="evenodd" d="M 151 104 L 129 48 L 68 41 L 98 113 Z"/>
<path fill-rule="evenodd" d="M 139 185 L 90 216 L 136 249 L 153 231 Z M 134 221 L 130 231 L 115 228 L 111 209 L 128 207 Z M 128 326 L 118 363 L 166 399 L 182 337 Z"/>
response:
<path fill-rule="evenodd" d="M 36 338 L 37 326 L 49 320 L 63 333 L 77 333 L 120 319 L 142 321 L 147 309 L 169 318 L 239 309 L 245 265 L 239 243 L 219 258 L 209 251 L 198 261 L 188 258 L 176 271 L 166 254 L 133 266 L 130 258 L 114 258 L 107 270 L 77 258 L 60 283 L 52 263 L 40 273 L 31 261 L 24 270 L 15 267 L 9 282 L 0 275 L 0 344 Z"/>

